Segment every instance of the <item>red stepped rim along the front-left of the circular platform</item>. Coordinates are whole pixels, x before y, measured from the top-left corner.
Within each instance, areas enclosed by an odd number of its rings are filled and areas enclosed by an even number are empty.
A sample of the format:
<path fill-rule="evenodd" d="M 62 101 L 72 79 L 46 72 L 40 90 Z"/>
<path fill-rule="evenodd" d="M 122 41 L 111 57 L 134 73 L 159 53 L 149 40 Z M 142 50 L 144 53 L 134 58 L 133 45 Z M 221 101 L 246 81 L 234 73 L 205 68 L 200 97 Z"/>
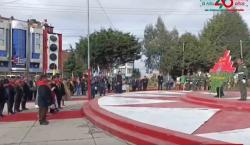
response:
<path fill-rule="evenodd" d="M 102 109 L 98 100 L 94 99 L 83 107 L 86 117 L 95 125 L 139 145 L 209 145 L 228 144 L 222 141 L 206 139 L 194 135 L 184 134 L 168 129 L 154 127 Z"/>

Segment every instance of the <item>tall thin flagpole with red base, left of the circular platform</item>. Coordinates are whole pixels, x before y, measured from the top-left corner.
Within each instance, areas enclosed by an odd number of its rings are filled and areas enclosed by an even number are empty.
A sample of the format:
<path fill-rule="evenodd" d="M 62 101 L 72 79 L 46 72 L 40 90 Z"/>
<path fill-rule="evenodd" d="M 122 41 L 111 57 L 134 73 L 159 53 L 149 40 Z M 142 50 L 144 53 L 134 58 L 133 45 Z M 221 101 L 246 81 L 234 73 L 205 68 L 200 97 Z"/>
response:
<path fill-rule="evenodd" d="M 91 67 L 90 67 L 90 42 L 89 42 L 89 0 L 87 0 L 88 7 L 88 99 L 91 99 Z"/>

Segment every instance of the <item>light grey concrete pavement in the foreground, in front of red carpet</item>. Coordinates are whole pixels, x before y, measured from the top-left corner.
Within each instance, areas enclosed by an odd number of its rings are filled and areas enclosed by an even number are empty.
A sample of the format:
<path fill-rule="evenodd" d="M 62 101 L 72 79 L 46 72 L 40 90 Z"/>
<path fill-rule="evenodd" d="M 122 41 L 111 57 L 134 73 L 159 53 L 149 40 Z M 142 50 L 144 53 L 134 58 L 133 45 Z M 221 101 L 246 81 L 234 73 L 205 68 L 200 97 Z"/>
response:
<path fill-rule="evenodd" d="M 0 122 L 0 145 L 128 145 L 84 118 L 52 120 L 48 126 L 37 121 Z"/>

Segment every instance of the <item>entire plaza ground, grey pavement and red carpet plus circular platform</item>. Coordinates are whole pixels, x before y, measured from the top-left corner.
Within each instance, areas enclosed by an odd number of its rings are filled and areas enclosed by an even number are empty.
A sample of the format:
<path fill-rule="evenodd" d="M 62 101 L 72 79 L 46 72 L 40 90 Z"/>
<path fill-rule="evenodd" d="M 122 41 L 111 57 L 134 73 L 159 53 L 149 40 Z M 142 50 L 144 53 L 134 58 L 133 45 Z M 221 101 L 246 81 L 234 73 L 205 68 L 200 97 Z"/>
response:
<path fill-rule="evenodd" d="M 39 125 L 30 102 L 28 111 L 0 120 L 0 145 L 172 145 L 183 140 L 248 145 L 250 102 L 236 100 L 238 92 L 225 94 L 218 99 L 209 92 L 147 91 L 90 102 L 76 98 L 49 114 L 48 126 Z"/>

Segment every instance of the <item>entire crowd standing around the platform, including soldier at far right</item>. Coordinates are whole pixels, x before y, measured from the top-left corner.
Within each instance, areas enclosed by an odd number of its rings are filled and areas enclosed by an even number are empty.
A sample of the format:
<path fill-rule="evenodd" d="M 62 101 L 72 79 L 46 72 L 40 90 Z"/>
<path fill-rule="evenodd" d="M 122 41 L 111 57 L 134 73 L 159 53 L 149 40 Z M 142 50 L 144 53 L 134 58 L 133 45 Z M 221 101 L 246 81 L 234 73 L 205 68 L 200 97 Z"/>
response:
<path fill-rule="evenodd" d="M 246 100 L 247 69 L 239 61 L 237 75 L 240 80 L 241 98 Z M 86 76 L 85 76 L 86 77 Z M 7 104 L 8 114 L 16 114 L 27 110 L 27 101 L 35 101 L 39 108 L 40 124 L 48 124 L 46 113 L 56 113 L 64 105 L 64 101 L 72 95 L 86 95 L 88 90 L 85 77 L 63 79 L 59 75 L 48 78 L 46 75 L 33 78 L 12 77 L 0 78 L 0 118 L 4 117 L 3 109 Z M 197 71 L 190 75 L 182 75 L 173 79 L 170 75 L 158 75 L 156 77 L 158 90 L 209 90 L 209 73 Z M 229 81 L 230 82 L 230 81 Z M 105 75 L 94 76 L 91 80 L 91 95 L 95 98 L 97 94 L 105 96 L 107 93 L 122 93 L 124 91 L 146 91 L 149 79 L 145 76 L 142 79 L 125 79 L 121 72 L 115 77 Z M 217 90 L 217 95 L 223 96 L 223 87 Z"/>

